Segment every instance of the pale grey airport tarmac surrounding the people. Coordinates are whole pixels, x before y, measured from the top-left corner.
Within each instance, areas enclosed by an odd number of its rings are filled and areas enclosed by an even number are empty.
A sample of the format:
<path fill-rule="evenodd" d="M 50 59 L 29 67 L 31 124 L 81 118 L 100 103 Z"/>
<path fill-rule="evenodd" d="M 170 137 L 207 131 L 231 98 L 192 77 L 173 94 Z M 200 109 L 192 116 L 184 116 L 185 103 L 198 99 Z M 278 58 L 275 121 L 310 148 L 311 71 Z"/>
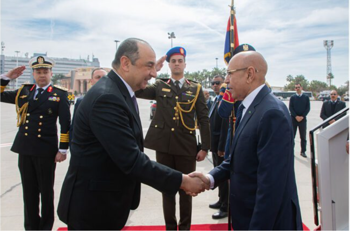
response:
<path fill-rule="evenodd" d="M 284 101 L 288 106 L 288 101 Z M 149 119 L 149 108 L 151 104 L 149 100 L 138 99 L 140 117 L 144 135 L 146 135 L 148 127 L 151 123 Z M 348 102 L 346 102 L 348 106 Z M 0 174 L 1 174 L 1 230 L 23 230 L 23 199 L 22 185 L 20 173 L 18 170 L 18 154 L 10 151 L 14 137 L 18 131 L 16 127 L 15 106 L 12 104 L 1 103 L 1 155 L 0 155 Z M 320 118 L 322 102 L 311 101 L 311 111 L 307 116 L 307 131 L 322 122 Z M 71 106 L 71 113 L 74 106 Z M 58 124 L 59 127 L 59 124 Z M 59 128 L 58 128 L 58 131 Z M 311 165 L 310 165 L 310 147 L 309 136 L 307 133 L 307 158 L 301 157 L 300 154 L 300 138 L 299 134 L 295 139 L 295 175 L 299 194 L 299 203 L 301 207 L 301 215 L 303 223 L 310 230 L 315 228 L 313 202 L 312 202 L 312 184 L 311 184 Z M 345 144 L 344 144 L 345 145 Z M 145 153 L 149 158 L 155 160 L 155 151 L 145 149 Z M 63 179 L 69 165 L 69 154 L 66 161 L 57 163 L 55 177 L 55 210 L 58 204 L 58 198 L 61 191 Z M 213 168 L 211 153 L 202 162 L 197 162 L 197 171 L 203 173 L 209 172 Z M 178 194 L 177 194 L 178 197 Z M 208 205 L 218 200 L 218 189 L 214 191 L 206 191 L 193 199 L 192 224 L 209 224 L 209 223 L 227 223 L 227 218 L 214 220 L 211 215 L 216 212 L 210 209 Z M 177 202 L 179 200 L 177 199 Z M 177 219 L 179 219 L 179 207 L 177 204 Z M 159 191 L 154 188 L 142 184 L 141 186 L 141 202 L 137 210 L 131 211 L 126 225 L 164 225 L 162 196 Z M 55 214 L 55 223 L 52 230 L 66 225 L 59 221 Z"/>

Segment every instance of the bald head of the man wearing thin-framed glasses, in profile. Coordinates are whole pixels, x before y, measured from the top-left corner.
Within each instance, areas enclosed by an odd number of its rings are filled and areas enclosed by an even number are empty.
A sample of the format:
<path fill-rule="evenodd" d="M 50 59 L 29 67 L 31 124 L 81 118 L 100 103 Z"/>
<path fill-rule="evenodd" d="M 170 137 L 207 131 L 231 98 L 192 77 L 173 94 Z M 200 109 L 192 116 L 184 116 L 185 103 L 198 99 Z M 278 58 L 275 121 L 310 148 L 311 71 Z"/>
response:
<path fill-rule="evenodd" d="M 243 100 L 250 92 L 265 83 L 267 63 L 259 52 L 240 52 L 230 60 L 228 72 L 232 97 Z"/>

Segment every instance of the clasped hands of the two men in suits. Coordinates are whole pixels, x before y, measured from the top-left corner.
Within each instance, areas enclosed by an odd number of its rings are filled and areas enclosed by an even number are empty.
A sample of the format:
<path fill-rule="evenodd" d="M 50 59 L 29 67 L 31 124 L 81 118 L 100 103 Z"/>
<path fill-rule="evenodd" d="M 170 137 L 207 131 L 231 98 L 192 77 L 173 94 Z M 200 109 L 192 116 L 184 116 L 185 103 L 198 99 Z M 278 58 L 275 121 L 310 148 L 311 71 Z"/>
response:
<path fill-rule="evenodd" d="M 190 174 L 182 174 L 181 189 L 187 195 L 197 196 L 198 193 L 210 189 L 210 179 L 201 172 L 191 172 Z"/>

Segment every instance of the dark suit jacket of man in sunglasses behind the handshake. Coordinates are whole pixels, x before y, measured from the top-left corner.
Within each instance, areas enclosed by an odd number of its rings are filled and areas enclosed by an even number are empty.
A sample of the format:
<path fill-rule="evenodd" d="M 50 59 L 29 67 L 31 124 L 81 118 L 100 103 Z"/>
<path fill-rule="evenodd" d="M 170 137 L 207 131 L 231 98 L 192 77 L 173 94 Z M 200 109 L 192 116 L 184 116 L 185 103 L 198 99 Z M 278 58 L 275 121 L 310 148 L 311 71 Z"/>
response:
<path fill-rule="evenodd" d="M 220 99 L 215 101 L 212 105 L 212 113 L 210 114 L 210 151 L 218 152 L 225 151 L 226 139 L 229 130 L 229 119 L 223 119 L 218 113 L 218 105 Z M 210 110 L 210 111 L 211 111 Z"/>

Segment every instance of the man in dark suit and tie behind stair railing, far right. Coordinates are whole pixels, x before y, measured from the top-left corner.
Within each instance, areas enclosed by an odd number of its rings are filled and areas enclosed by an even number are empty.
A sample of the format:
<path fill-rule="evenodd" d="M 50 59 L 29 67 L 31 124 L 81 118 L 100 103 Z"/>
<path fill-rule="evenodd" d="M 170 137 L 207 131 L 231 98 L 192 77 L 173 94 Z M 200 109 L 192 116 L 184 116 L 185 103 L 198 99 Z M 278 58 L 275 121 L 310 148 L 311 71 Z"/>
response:
<path fill-rule="evenodd" d="M 338 100 L 338 92 L 336 90 L 332 90 L 330 92 L 330 100 L 323 102 L 320 117 L 323 120 L 328 119 L 335 113 L 341 111 L 346 107 L 345 102 Z M 336 120 L 332 119 L 329 121 L 329 124 L 333 124 Z M 327 127 L 325 125 L 323 128 Z"/>

